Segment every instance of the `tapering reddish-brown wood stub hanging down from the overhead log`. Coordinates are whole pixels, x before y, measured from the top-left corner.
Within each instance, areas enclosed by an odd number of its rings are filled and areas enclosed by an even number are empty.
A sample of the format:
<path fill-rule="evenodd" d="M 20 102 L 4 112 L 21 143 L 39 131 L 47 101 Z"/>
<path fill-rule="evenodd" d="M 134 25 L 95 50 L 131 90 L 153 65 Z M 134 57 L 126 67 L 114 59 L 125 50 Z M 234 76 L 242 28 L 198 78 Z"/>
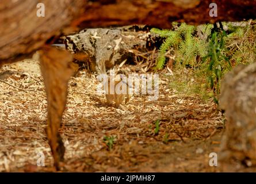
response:
<path fill-rule="evenodd" d="M 54 155 L 54 164 L 64 159 L 65 147 L 59 135 L 62 114 L 66 106 L 67 83 L 72 75 L 72 55 L 68 51 L 46 47 L 40 51 L 41 72 L 47 94 L 47 136 Z"/>

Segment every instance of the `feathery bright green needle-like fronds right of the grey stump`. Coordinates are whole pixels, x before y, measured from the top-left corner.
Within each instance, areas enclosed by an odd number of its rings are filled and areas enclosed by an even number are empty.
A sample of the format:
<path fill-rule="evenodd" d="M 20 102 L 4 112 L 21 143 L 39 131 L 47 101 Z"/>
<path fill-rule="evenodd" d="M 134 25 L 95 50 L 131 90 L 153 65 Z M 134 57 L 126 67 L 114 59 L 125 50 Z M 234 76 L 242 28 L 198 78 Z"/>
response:
<path fill-rule="evenodd" d="M 203 40 L 198 39 L 195 35 L 197 27 L 182 23 L 177 27 L 177 23 L 173 23 L 173 30 L 152 28 L 151 32 L 164 37 L 165 41 L 159 48 L 159 56 L 156 68 L 161 70 L 165 66 L 166 52 L 172 47 L 176 52 L 175 60 L 183 64 L 196 64 L 196 56 L 204 56 L 207 52 L 206 45 Z"/>

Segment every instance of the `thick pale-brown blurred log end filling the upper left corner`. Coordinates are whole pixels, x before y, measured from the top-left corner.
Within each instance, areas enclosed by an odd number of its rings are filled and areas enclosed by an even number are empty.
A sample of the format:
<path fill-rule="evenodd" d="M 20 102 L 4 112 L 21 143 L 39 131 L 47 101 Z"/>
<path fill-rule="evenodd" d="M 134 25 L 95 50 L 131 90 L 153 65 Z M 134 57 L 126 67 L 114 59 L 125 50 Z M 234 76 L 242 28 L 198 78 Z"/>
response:
<path fill-rule="evenodd" d="M 37 17 L 35 0 L 0 2 L 0 66 L 42 47 L 70 24 L 83 7 L 80 0 L 42 0 L 45 17 Z M 22 54 L 22 56 L 21 56 Z"/>

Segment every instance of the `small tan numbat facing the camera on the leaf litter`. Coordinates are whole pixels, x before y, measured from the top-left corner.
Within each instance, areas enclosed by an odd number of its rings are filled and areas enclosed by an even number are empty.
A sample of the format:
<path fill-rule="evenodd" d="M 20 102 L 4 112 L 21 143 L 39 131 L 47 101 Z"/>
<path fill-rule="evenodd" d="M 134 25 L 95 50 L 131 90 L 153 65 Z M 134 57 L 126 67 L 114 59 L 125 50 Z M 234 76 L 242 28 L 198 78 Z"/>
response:
<path fill-rule="evenodd" d="M 108 81 L 106 81 L 104 88 L 106 90 L 106 103 L 108 105 L 112 105 L 115 103 L 115 107 L 117 108 L 125 99 L 125 104 L 129 101 L 129 86 L 126 82 L 124 82 L 120 75 L 116 75 L 116 77 L 110 77 Z"/>

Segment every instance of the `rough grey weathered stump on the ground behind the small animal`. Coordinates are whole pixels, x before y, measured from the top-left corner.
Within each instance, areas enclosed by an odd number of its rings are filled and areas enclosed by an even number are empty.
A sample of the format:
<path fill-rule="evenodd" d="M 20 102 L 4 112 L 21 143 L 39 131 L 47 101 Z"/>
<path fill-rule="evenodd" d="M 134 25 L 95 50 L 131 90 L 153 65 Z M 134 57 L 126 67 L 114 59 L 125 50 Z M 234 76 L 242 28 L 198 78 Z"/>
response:
<path fill-rule="evenodd" d="M 136 31 L 137 30 L 137 31 Z M 133 59 L 131 49 L 146 49 L 154 40 L 147 26 L 124 26 L 114 29 L 84 29 L 78 34 L 66 37 L 66 49 L 75 53 L 75 59 L 88 62 L 91 71 L 105 74 L 106 69 Z"/>

